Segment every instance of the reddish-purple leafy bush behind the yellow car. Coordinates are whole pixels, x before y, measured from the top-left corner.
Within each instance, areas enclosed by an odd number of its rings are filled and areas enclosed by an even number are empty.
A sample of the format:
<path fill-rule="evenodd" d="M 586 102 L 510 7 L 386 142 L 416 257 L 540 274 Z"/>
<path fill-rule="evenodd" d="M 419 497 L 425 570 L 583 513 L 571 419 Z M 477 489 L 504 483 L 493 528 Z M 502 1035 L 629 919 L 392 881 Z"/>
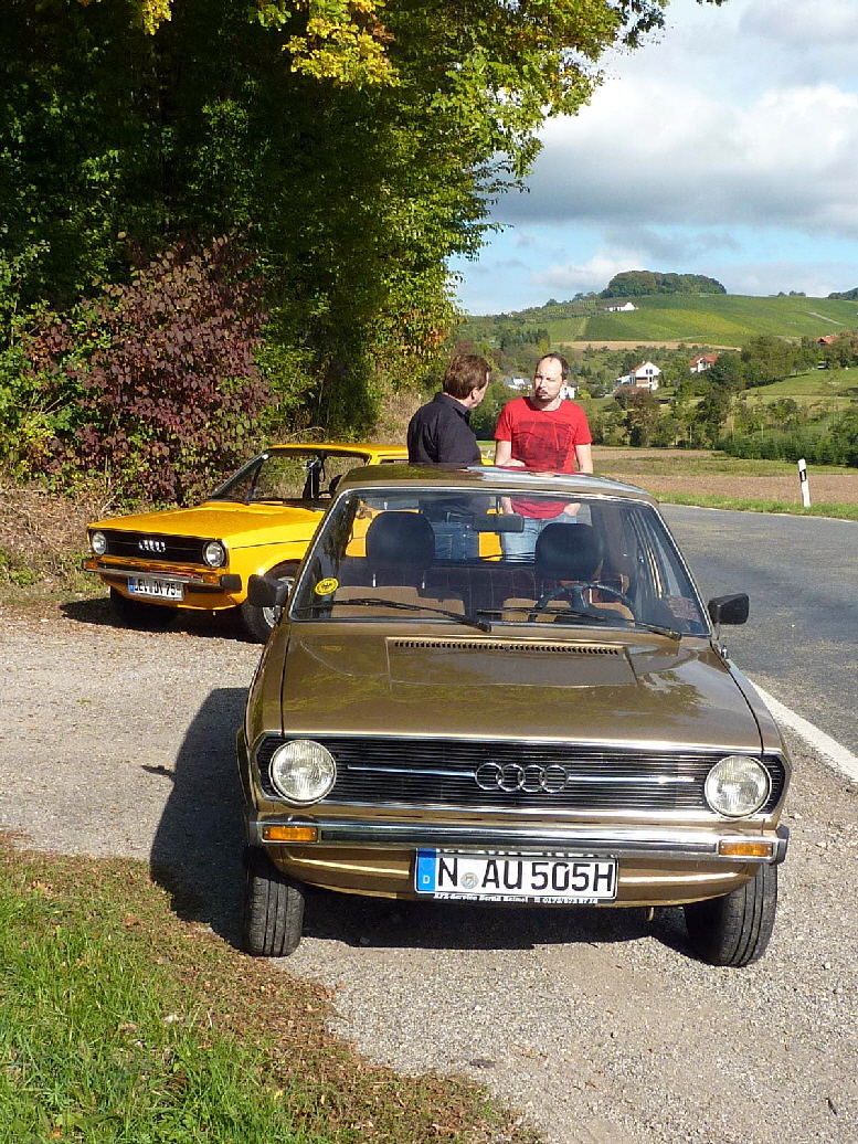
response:
<path fill-rule="evenodd" d="M 38 332 L 32 376 L 57 411 L 43 469 L 183 501 L 244 460 L 270 399 L 254 363 L 261 289 L 233 239 L 183 243 Z"/>

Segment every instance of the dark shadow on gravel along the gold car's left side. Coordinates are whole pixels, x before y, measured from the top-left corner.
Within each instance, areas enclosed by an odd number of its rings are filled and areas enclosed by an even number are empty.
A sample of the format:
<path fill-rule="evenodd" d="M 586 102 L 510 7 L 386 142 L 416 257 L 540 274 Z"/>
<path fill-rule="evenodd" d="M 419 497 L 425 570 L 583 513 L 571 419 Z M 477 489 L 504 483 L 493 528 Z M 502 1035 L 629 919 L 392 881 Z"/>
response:
<path fill-rule="evenodd" d="M 152 843 L 152 877 L 175 913 L 202 922 L 231 945 L 241 934 L 244 826 L 236 731 L 247 691 L 213 691 L 185 732 L 173 792 Z"/>

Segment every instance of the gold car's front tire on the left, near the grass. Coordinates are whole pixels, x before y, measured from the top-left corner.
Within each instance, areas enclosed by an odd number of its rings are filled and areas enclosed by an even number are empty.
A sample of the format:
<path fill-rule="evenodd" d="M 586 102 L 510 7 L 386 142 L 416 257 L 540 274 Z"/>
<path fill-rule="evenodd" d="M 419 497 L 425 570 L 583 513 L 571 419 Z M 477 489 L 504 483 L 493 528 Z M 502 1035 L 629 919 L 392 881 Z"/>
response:
<path fill-rule="evenodd" d="M 287 958 L 301 942 L 304 889 L 257 847 L 246 852 L 244 946 L 257 958 Z"/>

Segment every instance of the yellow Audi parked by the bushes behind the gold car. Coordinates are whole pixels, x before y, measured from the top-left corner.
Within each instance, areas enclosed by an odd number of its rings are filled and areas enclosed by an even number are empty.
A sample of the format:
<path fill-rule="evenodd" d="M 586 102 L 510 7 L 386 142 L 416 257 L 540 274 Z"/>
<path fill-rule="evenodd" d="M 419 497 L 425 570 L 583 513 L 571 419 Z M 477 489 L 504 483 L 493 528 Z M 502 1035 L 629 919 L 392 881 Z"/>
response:
<path fill-rule="evenodd" d="M 166 627 L 180 609 L 238 607 L 247 635 L 264 643 L 279 609 L 249 603 L 249 577 L 291 581 L 340 478 L 407 459 L 389 445 L 275 445 L 194 508 L 90 524 L 84 569 L 110 587 L 128 626 Z"/>

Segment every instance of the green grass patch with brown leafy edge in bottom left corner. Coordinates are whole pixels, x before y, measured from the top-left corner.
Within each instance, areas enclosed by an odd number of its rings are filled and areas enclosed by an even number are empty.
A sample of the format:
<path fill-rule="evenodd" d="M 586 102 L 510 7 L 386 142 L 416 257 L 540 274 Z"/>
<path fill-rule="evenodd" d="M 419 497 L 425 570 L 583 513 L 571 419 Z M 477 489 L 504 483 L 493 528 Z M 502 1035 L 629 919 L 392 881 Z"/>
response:
<path fill-rule="evenodd" d="M 321 986 L 181 922 L 141 865 L 0 864 L 2 1144 L 534 1139 L 476 1086 L 367 1065 Z"/>

